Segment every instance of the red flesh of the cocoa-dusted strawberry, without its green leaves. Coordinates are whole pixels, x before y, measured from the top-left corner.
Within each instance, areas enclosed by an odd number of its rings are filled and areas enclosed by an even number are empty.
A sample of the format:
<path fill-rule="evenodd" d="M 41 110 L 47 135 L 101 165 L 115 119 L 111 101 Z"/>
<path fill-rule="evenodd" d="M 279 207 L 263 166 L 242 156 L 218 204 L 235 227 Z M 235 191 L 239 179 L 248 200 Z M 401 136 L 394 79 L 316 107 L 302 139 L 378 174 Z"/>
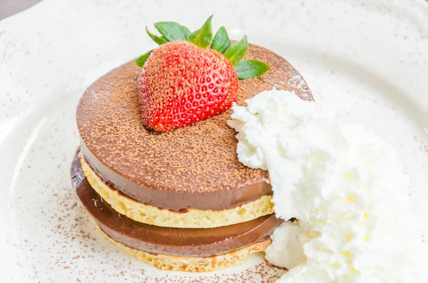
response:
<path fill-rule="evenodd" d="M 143 125 L 158 131 L 222 113 L 237 93 L 238 75 L 228 58 L 187 41 L 159 46 L 138 78 Z"/>

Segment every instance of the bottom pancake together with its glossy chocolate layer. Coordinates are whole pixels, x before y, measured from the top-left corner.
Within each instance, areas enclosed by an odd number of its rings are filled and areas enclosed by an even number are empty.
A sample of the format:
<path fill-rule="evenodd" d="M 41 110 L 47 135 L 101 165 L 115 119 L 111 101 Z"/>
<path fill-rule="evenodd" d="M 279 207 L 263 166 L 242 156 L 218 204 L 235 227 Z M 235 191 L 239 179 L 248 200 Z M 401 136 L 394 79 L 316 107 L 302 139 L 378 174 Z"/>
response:
<path fill-rule="evenodd" d="M 93 190 L 83 174 L 77 153 L 71 165 L 71 182 L 86 211 L 110 240 L 165 269 L 188 270 L 191 267 L 193 271 L 208 271 L 240 262 L 248 254 L 264 250 L 270 243 L 269 235 L 283 222 L 275 215 L 266 215 L 237 225 L 186 229 L 133 221 L 113 210 Z M 223 263 L 216 265 L 219 261 Z M 190 262 L 194 266 L 189 265 Z"/>

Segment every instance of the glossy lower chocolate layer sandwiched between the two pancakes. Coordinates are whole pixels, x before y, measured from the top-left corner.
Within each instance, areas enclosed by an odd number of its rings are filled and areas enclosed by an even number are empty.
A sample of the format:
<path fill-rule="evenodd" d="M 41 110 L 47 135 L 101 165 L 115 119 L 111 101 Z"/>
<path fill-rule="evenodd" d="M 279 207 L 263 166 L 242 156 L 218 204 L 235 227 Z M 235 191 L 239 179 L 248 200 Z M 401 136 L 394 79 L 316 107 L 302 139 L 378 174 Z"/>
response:
<path fill-rule="evenodd" d="M 282 223 L 275 215 L 218 228 L 169 228 L 146 225 L 118 214 L 86 180 L 76 153 L 71 182 L 83 206 L 101 230 L 116 242 L 151 254 L 210 257 L 248 247 L 268 237 Z"/>

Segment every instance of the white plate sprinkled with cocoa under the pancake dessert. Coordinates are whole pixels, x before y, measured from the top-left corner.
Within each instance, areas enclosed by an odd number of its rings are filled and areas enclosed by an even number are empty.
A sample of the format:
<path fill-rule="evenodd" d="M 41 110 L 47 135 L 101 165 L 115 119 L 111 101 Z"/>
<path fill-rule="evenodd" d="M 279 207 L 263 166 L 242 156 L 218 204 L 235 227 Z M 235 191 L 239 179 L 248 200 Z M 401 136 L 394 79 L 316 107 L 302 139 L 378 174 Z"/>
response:
<path fill-rule="evenodd" d="M 394 145 L 423 240 L 427 2 L 45 0 L 0 22 L 1 282 L 273 282 L 282 273 L 260 257 L 203 275 L 148 267 L 94 230 L 71 189 L 84 89 L 153 46 L 146 25 L 175 20 L 195 29 L 209 14 L 233 38 L 245 32 L 287 58 L 340 120 L 367 123 Z"/>

